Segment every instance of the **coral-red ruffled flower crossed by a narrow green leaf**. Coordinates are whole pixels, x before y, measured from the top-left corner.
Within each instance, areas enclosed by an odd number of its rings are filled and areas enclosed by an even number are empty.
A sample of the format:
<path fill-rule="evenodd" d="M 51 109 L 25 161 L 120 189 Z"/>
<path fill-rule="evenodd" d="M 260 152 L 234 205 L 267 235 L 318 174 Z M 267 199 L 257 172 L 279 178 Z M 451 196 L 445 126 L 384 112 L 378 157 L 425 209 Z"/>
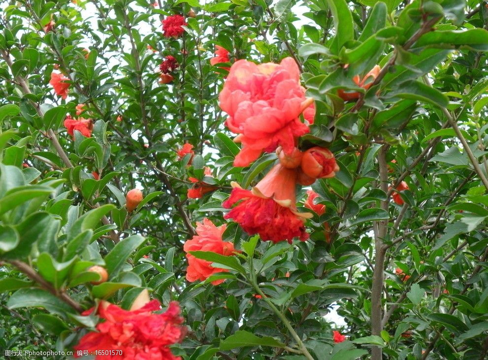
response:
<path fill-rule="evenodd" d="M 227 225 L 216 227 L 209 219 L 203 219 L 202 223 L 196 223 L 196 233 L 193 238 L 187 240 L 183 250 L 187 253 L 188 268 L 186 279 L 190 282 L 197 280 L 204 281 L 217 272 L 228 272 L 227 269 L 213 267 L 212 262 L 195 258 L 188 254 L 189 251 L 211 251 L 224 256 L 231 256 L 234 253 L 234 244 L 222 241 L 222 234 Z M 212 281 L 213 285 L 219 285 L 224 279 Z"/>

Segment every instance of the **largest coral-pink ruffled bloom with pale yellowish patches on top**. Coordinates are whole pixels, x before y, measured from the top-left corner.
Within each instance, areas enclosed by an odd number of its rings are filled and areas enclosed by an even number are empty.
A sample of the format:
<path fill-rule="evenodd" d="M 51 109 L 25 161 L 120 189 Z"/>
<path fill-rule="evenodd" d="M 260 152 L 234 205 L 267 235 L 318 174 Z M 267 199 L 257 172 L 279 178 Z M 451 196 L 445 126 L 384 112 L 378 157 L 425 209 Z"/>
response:
<path fill-rule="evenodd" d="M 299 116 L 303 113 L 313 123 L 315 107 L 312 98 L 305 98 L 299 75 L 292 58 L 280 64 L 256 65 L 246 60 L 232 64 L 219 100 L 229 115 L 227 127 L 238 134 L 234 141 L 242 143 L 235 166 L 247 166 L 278 146 L 290 154 L 296 139 L 309 132 Z"/>

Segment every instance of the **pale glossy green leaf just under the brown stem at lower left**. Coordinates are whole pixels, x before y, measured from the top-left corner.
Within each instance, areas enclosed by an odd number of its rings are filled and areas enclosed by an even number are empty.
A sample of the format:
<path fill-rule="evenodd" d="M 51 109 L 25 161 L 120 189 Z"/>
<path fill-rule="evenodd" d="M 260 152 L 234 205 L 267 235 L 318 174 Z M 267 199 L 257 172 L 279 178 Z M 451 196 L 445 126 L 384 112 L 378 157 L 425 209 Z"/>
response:
<path fill-rule="evenodd" d="M 73 312 L 73 308 L 61 301 L 58 297 L 35 288 L 17 290 L 7 301 L 10 309 L 19 307 L 43 307 L 51 313 L 65 317 L 66 313 Z"/>

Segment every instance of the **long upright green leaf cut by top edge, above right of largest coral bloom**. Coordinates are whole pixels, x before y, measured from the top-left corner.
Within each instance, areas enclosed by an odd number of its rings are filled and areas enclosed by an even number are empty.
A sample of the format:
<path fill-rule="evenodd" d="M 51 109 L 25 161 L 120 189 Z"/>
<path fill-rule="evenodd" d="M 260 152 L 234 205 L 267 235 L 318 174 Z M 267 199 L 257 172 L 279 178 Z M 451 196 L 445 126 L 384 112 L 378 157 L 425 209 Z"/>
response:
<path fill-rule="evenodd" d="M 353 16 L 345 0 L 327 0 L 327 3 L 334 19 L 335 28 L 330 50 L 337 55 L 344 43 L 354 38 Z"/>

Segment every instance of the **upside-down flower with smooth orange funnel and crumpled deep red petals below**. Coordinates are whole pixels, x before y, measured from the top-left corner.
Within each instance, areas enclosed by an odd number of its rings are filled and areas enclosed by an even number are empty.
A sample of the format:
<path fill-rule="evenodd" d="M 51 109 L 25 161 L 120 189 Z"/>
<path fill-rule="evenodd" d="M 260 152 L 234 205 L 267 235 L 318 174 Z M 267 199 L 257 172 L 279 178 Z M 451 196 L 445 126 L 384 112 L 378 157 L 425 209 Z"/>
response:
<path fill-rule="evenodd" d="M 232 183 L 232 192 L 222 204 L 234 206 L 225 216 L 233 219 L 248 234 L 259 234 L 262 240 L 292 243 L 294 237 L 308 239 L 304 219 L 309 213 L 299 213 L 295 200 L 296 169 L 275 165 L 252 189 L 242 189 Z"/>

